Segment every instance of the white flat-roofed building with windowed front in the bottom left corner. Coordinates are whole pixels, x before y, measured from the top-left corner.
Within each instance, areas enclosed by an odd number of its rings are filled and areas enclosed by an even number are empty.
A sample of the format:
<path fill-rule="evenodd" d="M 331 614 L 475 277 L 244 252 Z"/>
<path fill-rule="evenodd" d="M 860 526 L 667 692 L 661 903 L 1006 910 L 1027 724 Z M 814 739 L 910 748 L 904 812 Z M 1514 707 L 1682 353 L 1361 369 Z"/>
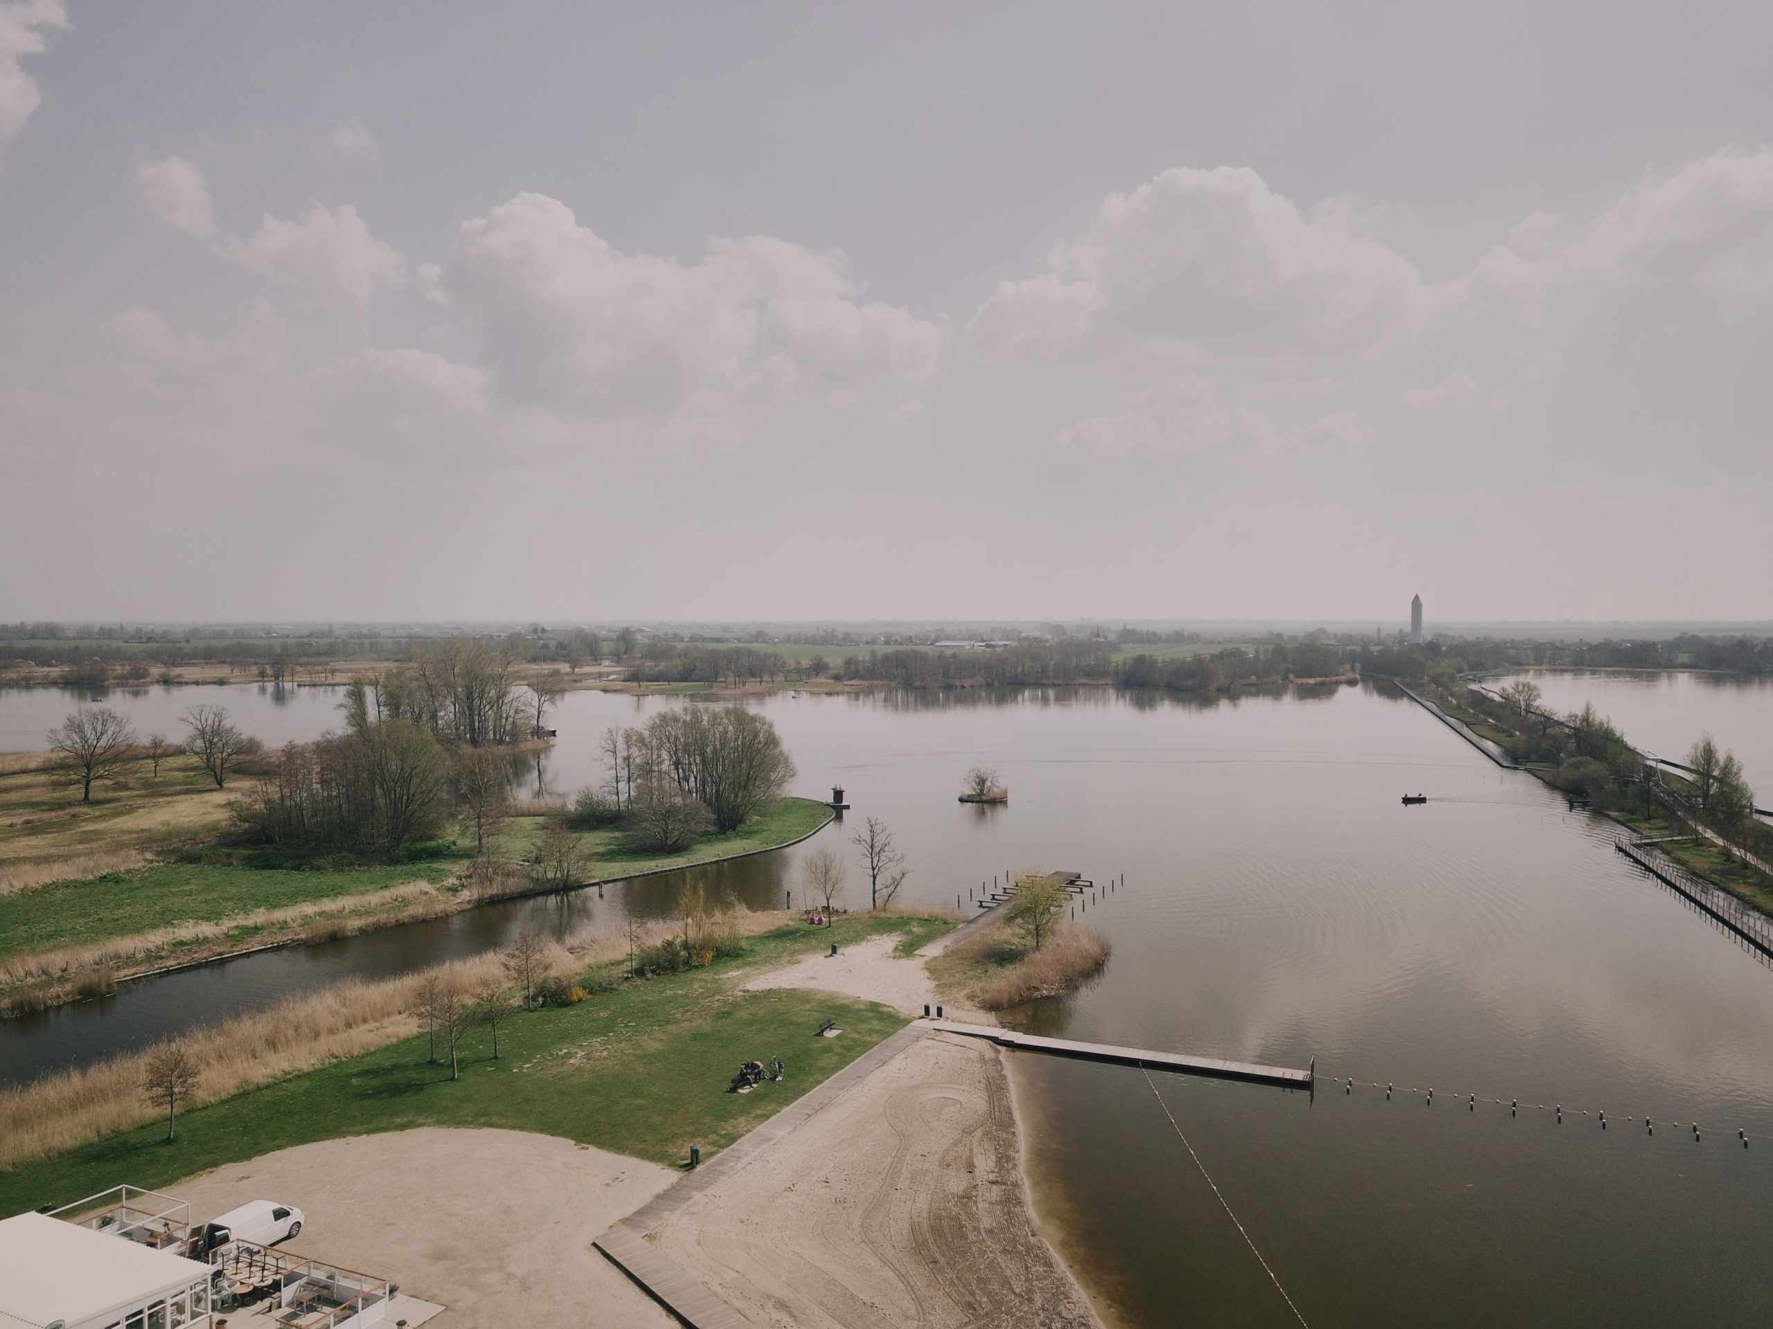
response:
<path fill-rule="evenodd" d="M 209 1265 L 48 1214 L 0 1219 L 0 1329 L 207 1322 Z"/>

